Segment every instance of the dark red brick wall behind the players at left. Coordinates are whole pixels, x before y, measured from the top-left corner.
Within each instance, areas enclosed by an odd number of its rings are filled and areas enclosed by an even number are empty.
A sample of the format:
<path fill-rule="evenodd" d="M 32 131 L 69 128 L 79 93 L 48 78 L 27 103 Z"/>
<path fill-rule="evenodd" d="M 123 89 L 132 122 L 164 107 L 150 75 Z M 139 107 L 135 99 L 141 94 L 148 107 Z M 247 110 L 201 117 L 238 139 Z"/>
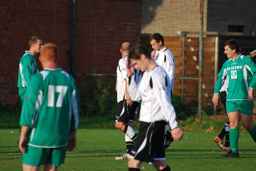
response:
<path fill-rule="evenodd" d="M 18 101 L 18 64 L 29 38 L 55 43 L 61 60 L 58 67 L 70 70 L 72 0 L 0 1 L 0 101 Z M 90 69 L 116 74 L 119 48 L 125 41 L 135 44 L 141 29 L 141 2 L 130 0 L 76 0 L 74 72 L 81 86 Z M 39 71 L 42 70 L 37 58 Z M 108 84 L 109 79 L 102 77 Z"/>

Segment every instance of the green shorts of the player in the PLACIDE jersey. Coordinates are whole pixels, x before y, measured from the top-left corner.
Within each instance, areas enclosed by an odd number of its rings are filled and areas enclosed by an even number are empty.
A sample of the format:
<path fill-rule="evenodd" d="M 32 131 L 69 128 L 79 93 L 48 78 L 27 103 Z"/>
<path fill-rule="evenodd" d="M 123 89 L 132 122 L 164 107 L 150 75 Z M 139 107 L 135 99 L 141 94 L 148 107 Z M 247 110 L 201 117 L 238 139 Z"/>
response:
<path fill-rule="evenodd" d="M 226 101 L 227 113 L 240 110 L 244 115 L 253 114 L 253 100 L 227 100 Z"/>

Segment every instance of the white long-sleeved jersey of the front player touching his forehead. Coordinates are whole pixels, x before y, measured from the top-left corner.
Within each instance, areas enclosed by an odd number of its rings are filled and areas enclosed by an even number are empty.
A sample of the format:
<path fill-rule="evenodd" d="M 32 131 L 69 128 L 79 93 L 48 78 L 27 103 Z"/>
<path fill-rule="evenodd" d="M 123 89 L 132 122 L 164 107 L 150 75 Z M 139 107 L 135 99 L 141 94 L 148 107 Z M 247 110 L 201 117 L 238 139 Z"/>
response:
<path fill-rule="evenodd" d="M 129 77 L 128 92 L 132 101 L 141 100 L 140 121 L 167 121 L 171 129 L 178 127 L 171 103 L 169 77 L 163 67 L 146 70 L 139 84 L 134 81 L 134 75 Z"/>

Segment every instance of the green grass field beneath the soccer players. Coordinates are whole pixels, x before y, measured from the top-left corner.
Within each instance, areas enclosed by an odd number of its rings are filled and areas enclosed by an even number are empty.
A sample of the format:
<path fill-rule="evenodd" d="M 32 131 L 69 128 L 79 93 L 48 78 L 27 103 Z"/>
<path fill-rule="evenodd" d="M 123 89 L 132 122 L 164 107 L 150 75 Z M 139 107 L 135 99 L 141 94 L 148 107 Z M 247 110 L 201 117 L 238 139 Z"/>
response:
<path fill-rule="evenodd" d="M 249 133 L 240 133 L 239 158 L 223 158 L 227 153 L 218 148 L 208 132 L 184 131 L 180 142 L 172 142 L 166 150 L 172 171 L 242 171 L 256 170 L 256 145 Z M 0 129 L 0 171 L 21 171 L 22 154 L 18 153 L 18 129 Z M 115 160 L 125 153 L 124 133 L 116 129 L 79 129 L 77 147 L 67 152 L 59 171 L 127 171 L 127 160 Z M 43 171 L 43 168 L 40 168 Z M 141 171 L 155 171 L 143 163 Z"/>

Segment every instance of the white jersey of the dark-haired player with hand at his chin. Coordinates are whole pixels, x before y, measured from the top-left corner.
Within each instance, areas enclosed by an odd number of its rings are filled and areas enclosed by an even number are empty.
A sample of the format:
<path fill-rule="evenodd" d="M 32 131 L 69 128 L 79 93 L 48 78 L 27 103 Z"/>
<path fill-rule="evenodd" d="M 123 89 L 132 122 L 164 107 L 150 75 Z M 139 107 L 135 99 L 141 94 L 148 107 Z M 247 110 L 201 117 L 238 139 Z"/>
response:
<path fill-rule="evenodd" d="M 154 58 L 154 61 L 157 65 L 163 67 L 164 70 L 167 72 L 170 79 L 171 90 L 173 92 L 175 59 L 172 55 L 172 52 L 166 47 L 164 47 L 162 50 L 156 51 L 156 57 Z"/>

